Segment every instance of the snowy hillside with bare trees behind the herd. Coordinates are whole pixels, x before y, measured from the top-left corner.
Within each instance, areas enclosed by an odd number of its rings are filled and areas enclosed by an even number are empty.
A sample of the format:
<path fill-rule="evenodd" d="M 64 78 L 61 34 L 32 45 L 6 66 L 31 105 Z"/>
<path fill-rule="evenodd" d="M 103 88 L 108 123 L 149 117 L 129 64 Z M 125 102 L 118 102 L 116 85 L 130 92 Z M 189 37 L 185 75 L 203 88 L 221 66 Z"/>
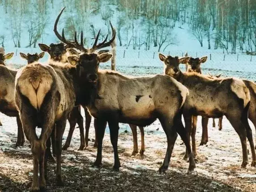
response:
<path fill-rule="evenodd" d="M 188 26 L 201 47 L 256 52 L 256 0 L 0 0 L 0 5 L 5 19 L 0 30 L 2 47 L 7 34 L 14 47 L 33 47 L 54 35 L 56 14 L 51 13 L 66 6 L 65 34 L 73 38 L 75 31 L 86 31 L 85 45 L 97 35 L 99 27 L 90 18 L 98 16 L 108 34 L 109 20 L 115 21 L 119 46 L 135 50 L 158 47 L 164 51 L 177 43 L 174 28 Z M 21 38 L 27 39 L 26 44 L 21 44 Z"/>

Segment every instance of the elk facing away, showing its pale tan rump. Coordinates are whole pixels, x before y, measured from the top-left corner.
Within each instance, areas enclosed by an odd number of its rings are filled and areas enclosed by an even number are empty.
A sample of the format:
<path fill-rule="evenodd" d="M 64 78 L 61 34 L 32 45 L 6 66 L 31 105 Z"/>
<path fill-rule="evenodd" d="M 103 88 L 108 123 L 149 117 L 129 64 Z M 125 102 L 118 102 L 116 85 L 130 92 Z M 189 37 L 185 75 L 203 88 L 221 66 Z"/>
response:
<path fill-rule="evenodd" d="M 73 66 L 61 66 L 60 64 L 42 65 L 39 63 L 27 65 L 17 73 L 15 102 L 25 135 L 31 143 L 31 151 L 34 158 L 32 190 L 39 190 L 39 187 L 41 190 L 46 188 L 46 142 L 48 142 L 47 140 L 55 125 L 56 178 L 57 184 L 63 185 L 60 168 L 61 144 L 68 115 L 75 105 L 77 93 L 76 86 L 74 86 L 74 81 L 77 82 L 74 76 L 75 73 L 76 69 Z M 34 86 L 32 85 L 32 82 L 38 81 L 39 85 L 38 83 L 34 83 Z M 36 101 L 35 98 L 37 98 Z M 39 138 L 35 133 L 36 126 L 42 128 Z M 40 171 L 39 184 L 38 165 Z"/>

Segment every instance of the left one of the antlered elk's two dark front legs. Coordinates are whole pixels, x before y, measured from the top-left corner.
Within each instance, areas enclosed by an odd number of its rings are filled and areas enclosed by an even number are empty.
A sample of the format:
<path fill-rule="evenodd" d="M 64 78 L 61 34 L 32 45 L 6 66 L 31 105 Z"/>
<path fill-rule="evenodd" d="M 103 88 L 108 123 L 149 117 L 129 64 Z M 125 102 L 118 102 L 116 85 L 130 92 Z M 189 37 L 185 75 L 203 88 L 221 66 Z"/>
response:
<path fill-rule="evenodd" d="M 97 129 L 97 141 L 98 141 L 97 157 L 94 162 L 94 166 L 99 167 L 102 165 L 102 140 L 104 137 L 105 128 L 107 126 L 107 121 L 105 119 L 97 118 L 97 119 L 94 119 L 94 125 L 96 125 L 95 128 Z"/>

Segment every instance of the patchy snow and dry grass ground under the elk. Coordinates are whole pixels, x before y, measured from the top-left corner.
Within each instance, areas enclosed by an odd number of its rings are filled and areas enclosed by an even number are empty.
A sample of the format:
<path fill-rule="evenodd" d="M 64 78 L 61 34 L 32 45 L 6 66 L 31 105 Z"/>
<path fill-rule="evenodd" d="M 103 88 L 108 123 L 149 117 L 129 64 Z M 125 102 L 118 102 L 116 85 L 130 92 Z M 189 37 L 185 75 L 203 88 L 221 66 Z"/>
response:
<path fill-rule="evenodd" d="M 3 124 L 0 127 L 0 191 L 27 192 L 31 187 L 33 176 L 32 154 L 29 143 L 15 148 L 17 125 L 15 118 L 0 115 Z M 201 118 L 198 119 L 196 134 L 197 146 L 201 140 Z M 252 126 L 253 133 L 255 133 Z M 67 124 L 64 140 L 68 135 Z M 139 129 L 138 129 L 139 130 Z M 40 129 L 37 130 L 38 134 Z M 255 134 L 254 134 L 255 137 Z M 242 149 L 238 135 L 226 118 L 223 129 L 212 127 L 209 120 L 209 142 L 198 146 L 196 169 L 188 173 L 188 162 L 182 160 L 184 145 L 178 137 L 169 170 L 160 175 L 166 152 L 166 136 L 159 121 L 145 128 L 144 156 L 132 154 L 132 133 L 127 124 L 120 124 L 119 157 L 122 167 L 119 172 L 112 171 L 114 162 L 113 150 L 106 129 L 103 141 L 103 166 L 101 169 L 92 166 L 97 149 L 93 148 L 93 122 L 89 134 L 89 147 L 78 151 L 80 146 L 79 129 L 76 128 L 71 146 L 62 154 L 62 174 L 64 187 L 55 185 L 55 163 L 49 163 L 47 191 L 49 192 L 255 192 L 256 168 L 240 168 Z M 140 147 L 140 133 L 138 131 Z M 247 142 L 248 145 L 248 142 Z M 249 149 L 249 145 L 248 145 Z M 249 162 L 251 152 L 249 152 Z"/>

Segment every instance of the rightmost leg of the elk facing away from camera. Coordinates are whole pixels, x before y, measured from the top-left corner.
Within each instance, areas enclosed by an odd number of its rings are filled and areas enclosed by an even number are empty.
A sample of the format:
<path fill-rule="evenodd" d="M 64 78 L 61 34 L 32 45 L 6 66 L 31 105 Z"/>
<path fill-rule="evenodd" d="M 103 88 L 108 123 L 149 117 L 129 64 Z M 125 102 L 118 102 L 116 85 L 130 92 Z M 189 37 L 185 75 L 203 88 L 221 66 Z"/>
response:
<path fill-rule="evenodd" d="M 67 119 L 61 119 L 56 123 L 56 158 L 57 158 L 57 166 L 56 166 L 56 185 L 63 186 L 64 183 L 61 177 L 61 150 L 62 150 L 62 137 L 65 131 Z"/>

